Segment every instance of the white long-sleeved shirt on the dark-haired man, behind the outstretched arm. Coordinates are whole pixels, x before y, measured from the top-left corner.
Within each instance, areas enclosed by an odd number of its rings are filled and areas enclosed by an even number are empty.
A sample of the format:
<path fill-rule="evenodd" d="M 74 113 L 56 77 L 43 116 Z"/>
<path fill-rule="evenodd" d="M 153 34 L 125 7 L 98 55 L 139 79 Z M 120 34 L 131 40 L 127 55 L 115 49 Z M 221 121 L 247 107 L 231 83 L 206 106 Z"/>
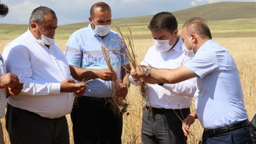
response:
<path fill-rule="evenodd" d="M 155 50 L 155 45 L 150 47 L 140 63 L 141 65 L 151 65 L 154 68 L 175 69 L 182 66 L 190 58 L 186 57 L 182 51 L 182 40 L 178 36 L 179 41 L 174 48 L 168 52 L 159 52 Z M 129 77 L 131 83 L 135 84 L 132 77 Z M 147 97 L 151 107 L 179 109 L 192 106 L 192 98 L 196 90 L 195 78 L 182 81 L 177 84 L 148 84 Z M 167 100 L 168 99 L 168 100 Z M 144 102 L 149 106 L 147 102 Z"/>

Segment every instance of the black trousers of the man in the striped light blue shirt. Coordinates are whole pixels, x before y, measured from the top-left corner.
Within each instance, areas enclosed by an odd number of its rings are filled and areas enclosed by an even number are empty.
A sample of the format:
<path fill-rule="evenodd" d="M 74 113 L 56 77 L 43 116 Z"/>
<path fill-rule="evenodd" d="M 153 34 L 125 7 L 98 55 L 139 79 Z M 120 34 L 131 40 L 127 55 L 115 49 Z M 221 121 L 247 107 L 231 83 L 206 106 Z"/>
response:
<path fill-rule="evenodd" d="M 122 115 L 110 103 L 77 98 L 71 112 L 75 144 L 121 144 Z"/>

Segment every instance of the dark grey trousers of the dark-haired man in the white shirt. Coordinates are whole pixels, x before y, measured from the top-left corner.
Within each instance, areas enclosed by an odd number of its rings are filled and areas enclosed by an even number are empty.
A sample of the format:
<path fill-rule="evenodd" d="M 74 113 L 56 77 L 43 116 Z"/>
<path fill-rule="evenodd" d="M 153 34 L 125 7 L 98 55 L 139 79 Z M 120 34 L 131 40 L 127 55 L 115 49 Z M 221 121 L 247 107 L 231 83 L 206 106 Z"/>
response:
<path fill-rule="evenodd" d="M 190 114 L 190 108 L 181 109 L 184 118 Z M 180 109 L 175 112 L 183 119 Z M 165 112 L 151 113 L 143 110 L 141 140 L 143 144 L 186 144 L 187 137 L 182 131 L 182 121 L 170 109 Z"/>

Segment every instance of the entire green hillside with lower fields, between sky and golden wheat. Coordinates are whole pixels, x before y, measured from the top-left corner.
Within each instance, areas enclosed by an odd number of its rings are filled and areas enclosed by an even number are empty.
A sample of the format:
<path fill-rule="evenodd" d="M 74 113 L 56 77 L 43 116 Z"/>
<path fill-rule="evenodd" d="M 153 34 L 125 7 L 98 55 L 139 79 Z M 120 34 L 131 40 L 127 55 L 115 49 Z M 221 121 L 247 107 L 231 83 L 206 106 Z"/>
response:
<path fill-rule="evenodd" d="M 204 4 L 188 9 L 172 12 L 179 23 L 182 24 L 192 17 L 202 17 L 208 21 L 211 32 L 217 37 L 256 36 L 256 2 L 217 2 Z M 134 36 L 150 38 L 147 28 L 153 15 L 112 19 L 111 29 L 115 30 L 115 22 L 122 30 L 132 27 Z M 122 21 L 121 21 L 122 20 Z M 87 27 L 89 22 L 59 25 L 56 37 L 68 39 L 74 31 Z M 10 34 L 17 37 L 28 28 L 28 25 L 0 24 L 0 34 Z M 181 32 L 181 31 L 180 31 Z M 225 35 L 223 35 L 225 34 Z M 227 35 L 226 35 L 227 34 Z M 236 35 L 239 34 L 239 35 Z M 0 36 L 0 39 L 8 39 Z"/>

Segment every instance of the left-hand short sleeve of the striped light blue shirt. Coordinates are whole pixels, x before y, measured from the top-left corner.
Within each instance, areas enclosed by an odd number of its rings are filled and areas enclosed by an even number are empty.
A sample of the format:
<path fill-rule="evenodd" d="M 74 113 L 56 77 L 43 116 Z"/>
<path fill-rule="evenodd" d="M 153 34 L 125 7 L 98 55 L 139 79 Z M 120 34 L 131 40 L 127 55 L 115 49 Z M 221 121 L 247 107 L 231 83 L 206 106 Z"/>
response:
<path fill-rule="evenodd" d="M 80 67 L 82 62 L 82 51 L 80 39 L 73 33 L 67 41 L 64 55 L 69 65 Z"/>

